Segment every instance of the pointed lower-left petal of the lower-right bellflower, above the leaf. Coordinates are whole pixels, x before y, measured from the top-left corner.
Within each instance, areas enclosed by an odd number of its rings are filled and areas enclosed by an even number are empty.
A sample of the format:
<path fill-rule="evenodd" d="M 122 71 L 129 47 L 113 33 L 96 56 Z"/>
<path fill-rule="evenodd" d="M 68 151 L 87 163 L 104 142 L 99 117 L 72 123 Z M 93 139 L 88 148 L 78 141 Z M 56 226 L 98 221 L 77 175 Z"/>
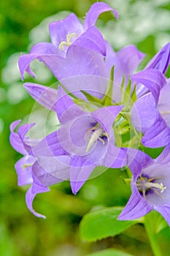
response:
<path fill-rule="evenodd" d="M 147 213 L 152 211 L 152 206 L 147 203 L 136 189 L 136 186 L 133 188 L 132 195 L 128 200 L 125 208 L 119 215 L 118 219 L 120 220 L 130 220 L 130 219 L 138 219 Z"/>

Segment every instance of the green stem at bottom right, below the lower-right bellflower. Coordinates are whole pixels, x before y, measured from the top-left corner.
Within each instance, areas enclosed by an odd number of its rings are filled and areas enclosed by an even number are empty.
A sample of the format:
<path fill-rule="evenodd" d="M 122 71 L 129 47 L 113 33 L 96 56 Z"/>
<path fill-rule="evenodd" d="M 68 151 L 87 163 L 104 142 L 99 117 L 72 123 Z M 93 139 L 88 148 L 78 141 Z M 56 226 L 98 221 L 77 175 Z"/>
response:
<path fill-rule="evenodd" d="M 152 222 L 152 218 L 150 214 L 147 214 L 144 217 L 144 226 L 147 231 L 147 236 L 150 240 L 150 246 L 152 248 L 152 252 L 154 256 L 163 256 L 161 248 L 158 244 L 158 240 L 156 234 L 154 232 L 154 223 Z"/>

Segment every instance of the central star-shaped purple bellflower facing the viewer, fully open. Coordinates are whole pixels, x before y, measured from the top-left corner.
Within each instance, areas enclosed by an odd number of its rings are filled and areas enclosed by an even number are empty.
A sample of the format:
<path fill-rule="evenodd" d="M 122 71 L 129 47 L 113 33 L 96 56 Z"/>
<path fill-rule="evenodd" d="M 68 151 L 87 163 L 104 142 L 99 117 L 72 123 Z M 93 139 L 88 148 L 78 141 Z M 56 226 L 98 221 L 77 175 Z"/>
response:
<path fill-rule="evenodd" d="M 70 157 L 69 179 L 72 192 L 76 194 L 96 166 L 125 165 L 126 151 L 115 146 L 112 129 L 122 108 L 110 106 L 85 112 L 59 87 L 56 112 L 61 128 L 47 135 L 33 148 L 32 154 Z"/>

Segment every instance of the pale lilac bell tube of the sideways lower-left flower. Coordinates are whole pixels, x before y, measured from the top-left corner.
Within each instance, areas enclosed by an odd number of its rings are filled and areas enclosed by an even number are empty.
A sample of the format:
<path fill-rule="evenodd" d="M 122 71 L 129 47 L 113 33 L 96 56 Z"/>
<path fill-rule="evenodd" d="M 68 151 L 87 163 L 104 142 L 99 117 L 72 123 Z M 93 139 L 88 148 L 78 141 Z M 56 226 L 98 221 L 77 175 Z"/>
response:
<path fill-rule="evenodd" d="M 51 186 L 69 180 L 70 157 L 38 157 L 33 173 L 44 186 Z"/>

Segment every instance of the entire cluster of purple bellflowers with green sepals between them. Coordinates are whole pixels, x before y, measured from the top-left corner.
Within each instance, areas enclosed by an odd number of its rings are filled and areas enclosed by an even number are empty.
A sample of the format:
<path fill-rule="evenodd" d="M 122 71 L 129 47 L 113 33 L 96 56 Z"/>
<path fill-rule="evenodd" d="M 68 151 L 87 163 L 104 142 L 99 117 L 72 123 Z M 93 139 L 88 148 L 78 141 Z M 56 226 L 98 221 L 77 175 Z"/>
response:
<path fill-rule="evenodd" d="M 29 210 L 38 193 L 70 180 L 76 194 L 98 166 L 131 170 L 132 195 L 119 219 L 136 219 L 160 212 L 170 225 L 170 60 L 166 44 L 141 72 L 144 58 L 134 45 L 115 52 L 96 28 L 102 12 L 116 10 L 97 2 L 82 25 L 76 15 L 50 23 L 51 42 L 40 42 L 20 56 L 19 68 L 35 76 L 31 61 L 42 61 L 60 83 L 58 89 L 36 83 L 25 88 L 36 102 L 55 111 L 60 127 L 34 140 L 34 124 L 11 124 L 10 142 L 23 154 L 15 169 Z M 162 148 L 161 148 L 162 147 Z M 145 148 L 161 148 L 152 159 Z"/>

